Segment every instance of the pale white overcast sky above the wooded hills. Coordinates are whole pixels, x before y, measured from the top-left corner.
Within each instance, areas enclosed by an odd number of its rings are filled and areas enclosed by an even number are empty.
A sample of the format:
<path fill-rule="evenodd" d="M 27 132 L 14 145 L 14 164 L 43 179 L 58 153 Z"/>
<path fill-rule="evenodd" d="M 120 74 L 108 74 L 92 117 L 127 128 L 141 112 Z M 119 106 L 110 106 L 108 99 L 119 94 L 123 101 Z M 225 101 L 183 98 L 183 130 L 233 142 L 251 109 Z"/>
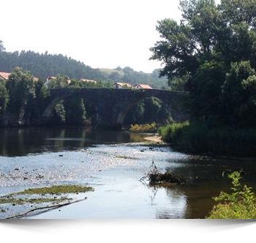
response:
<path fill-rule="evenodd" d="M 157 20 L 179 20 L 178 0 L 1 0 L 7 51 L 61 53 L 93 68 L 152 72 Z"/>

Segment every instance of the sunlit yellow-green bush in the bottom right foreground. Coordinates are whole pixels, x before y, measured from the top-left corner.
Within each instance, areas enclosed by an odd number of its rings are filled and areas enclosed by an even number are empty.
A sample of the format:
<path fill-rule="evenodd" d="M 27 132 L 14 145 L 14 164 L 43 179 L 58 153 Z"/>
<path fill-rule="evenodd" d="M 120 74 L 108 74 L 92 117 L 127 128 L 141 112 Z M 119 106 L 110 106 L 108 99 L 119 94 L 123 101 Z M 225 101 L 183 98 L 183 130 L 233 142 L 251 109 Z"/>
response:
<path fill-rule="evenodd" d="M 211 219 L 255 219 L 256 195 L 252 188 L 241 185 L 241 174 L 238 171 L 229 174 L 232 180 L 230 193 L 221 192 L 214 198 L 217 205 L 211 210 Z"/>

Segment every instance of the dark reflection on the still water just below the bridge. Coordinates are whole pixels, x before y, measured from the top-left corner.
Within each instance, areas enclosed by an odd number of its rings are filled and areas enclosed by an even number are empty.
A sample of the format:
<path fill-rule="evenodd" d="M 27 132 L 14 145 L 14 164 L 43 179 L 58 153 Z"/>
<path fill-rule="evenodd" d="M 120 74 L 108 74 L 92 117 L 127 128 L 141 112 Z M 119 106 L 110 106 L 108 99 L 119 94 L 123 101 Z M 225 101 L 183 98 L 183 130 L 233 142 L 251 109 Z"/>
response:
<path fill-rule="evenodd" d="M 0 155 L 21 156 L 45 151 L 78 150 L 91 144 L 142 142 L 144 136 L 91 128 L 2 128 Z"/>

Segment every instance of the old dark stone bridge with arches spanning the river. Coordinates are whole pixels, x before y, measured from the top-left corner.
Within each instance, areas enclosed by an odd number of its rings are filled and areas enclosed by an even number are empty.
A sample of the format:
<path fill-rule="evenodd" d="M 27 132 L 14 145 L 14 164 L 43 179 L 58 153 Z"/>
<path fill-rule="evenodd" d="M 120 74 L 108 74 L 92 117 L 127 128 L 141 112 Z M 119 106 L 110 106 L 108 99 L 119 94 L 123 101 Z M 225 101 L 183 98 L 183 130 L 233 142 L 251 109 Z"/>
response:
<path fill-rule="evenodd" d="M 188 119 L 184 107 L 188 95 L 186 92 L 154 89 L 57 88 L 50 90 L 50 104 L 43 116 L 47 120 L 59 101 L 76 96 L 94 107 L 94 124 L 97 127 L 121 128 L 124 118 L 135 104 L 156 97 L 170 109 L 174 120 L 184 121 Z"/>

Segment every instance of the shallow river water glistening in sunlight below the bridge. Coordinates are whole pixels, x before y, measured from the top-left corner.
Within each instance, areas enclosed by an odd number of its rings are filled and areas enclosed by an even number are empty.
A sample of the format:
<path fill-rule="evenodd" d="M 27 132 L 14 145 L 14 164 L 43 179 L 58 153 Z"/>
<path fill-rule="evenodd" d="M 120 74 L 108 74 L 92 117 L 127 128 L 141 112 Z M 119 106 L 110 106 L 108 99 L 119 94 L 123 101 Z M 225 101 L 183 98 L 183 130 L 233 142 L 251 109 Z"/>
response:
<path fill-rule="evenodd" d="M 29 218 L 204 218 L 226 174 L 244 171 L 256 188 L 254 160 L 187 155 L 148 144 L 146 134 L 89 128 L 10 128 L 0 130 L 0 195 L 31 187 L 89 185 L 86 201 Z M 187 185 L 148 187 L 140 178 L 152 161 Z"/>

